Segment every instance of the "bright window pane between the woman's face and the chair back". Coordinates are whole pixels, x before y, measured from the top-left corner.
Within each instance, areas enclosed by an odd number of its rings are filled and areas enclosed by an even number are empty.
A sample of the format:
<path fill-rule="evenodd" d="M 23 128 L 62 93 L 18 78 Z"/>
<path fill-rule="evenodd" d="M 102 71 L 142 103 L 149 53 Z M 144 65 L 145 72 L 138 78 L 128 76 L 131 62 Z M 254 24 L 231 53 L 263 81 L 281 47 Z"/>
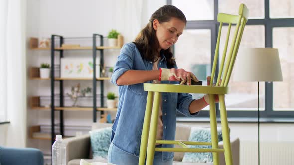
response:
<path fill-rule="evenodd" d="M 184 30 L 175 44 L 174 54 L 179 68 L 185 68 L 194 73 L 198 80 L 206 81 L 206 77 L 211 73 L 211 30 Z M 203 94 L 192 95 L 194 99 L 203 97 Z"/>

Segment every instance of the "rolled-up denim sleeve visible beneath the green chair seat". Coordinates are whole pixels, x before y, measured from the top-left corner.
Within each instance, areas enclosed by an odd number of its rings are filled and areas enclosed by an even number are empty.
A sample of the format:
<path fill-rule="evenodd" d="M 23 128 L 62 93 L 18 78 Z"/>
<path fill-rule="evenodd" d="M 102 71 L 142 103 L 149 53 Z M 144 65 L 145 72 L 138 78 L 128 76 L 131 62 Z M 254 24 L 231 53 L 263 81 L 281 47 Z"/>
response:
<path fill-rule="evenodd" d="M 192 103 L 192 101 L 194 101 L 191 94 L 178 93 L 177 99 L 178 99 L 177 109 L 179 112 L 181 112 L 187 117 L 198 116 L 199 112 L 191 114 L 189 111 L 190 104 Z"/>

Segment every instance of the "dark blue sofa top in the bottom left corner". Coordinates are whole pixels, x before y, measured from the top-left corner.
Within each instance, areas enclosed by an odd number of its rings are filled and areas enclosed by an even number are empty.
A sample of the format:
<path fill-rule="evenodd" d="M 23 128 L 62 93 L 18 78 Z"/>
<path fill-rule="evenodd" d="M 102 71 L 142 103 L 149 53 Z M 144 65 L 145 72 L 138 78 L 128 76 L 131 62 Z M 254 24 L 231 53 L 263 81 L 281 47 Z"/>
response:
<path fill-rule="evenodd" d="M 34 148 L 0 146 L 0 165 L 44 165 L 44 156 Z"/>

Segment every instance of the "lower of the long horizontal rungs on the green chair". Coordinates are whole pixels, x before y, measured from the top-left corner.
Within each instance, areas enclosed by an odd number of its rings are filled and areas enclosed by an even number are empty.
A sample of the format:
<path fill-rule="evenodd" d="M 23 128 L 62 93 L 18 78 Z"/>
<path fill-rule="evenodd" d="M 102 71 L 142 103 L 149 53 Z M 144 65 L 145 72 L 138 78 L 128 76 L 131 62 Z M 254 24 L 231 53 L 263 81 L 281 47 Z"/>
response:
<path fill-rule="evenodd" d="M 189 153 L 215 153 L 224 152 L 224 149 L 199 149 L 199 148 L 155 148 L 155 151 L 165 151 L 165 152 L 189 152 Z"/>

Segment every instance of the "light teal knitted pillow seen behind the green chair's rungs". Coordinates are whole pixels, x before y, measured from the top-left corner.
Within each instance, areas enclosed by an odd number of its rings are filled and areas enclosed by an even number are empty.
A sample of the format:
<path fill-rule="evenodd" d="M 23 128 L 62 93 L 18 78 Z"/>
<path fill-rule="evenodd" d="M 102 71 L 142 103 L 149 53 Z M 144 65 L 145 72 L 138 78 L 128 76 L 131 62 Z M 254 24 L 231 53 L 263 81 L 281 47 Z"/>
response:
<path fill-rule="evenodd" d="M 221 127 L 217 128 L 218 141 L 222 141 Z M 210 128 L 192 127 L 189 141 L 211 142 Z M 188 145 L 190 148 L 211 148 L 211 146 Z M 185 153 L 182 162 L 212 163 L 211 153 Z"/>

